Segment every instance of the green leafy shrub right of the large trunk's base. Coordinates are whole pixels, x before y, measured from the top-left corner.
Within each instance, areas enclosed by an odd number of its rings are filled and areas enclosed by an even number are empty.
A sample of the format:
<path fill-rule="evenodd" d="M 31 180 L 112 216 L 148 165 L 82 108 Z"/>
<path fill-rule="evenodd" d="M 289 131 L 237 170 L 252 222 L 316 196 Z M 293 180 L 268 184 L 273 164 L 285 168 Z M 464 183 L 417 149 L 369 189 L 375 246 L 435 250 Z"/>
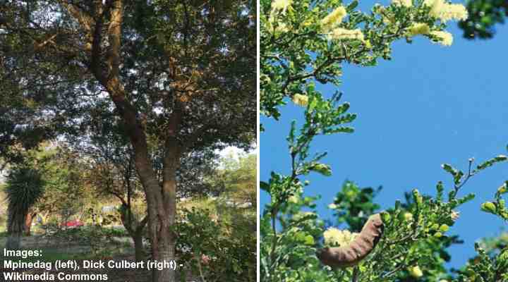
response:
<path fill-rule="evenodd" d="M 255 214 L 214 217 L 208 209 L 183 210 L 174 226 L 179 263 L 201 281 L 255 281 Z"/>

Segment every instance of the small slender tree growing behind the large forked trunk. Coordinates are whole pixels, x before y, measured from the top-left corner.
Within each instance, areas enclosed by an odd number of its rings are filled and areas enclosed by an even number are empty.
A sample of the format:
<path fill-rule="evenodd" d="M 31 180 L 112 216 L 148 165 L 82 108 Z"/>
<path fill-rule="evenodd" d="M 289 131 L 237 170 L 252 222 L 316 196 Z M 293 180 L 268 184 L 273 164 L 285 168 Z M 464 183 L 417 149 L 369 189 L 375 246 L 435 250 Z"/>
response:
<path fill-rule="evenodd" d="M 111 113 L 111 116 L 113 114 Z M 123 127 L 116 121 L 107 121 L 90 116 L 87 120 L 87 132 L 84 136 L 75 136 L 68 140 L 72 154 L 78 156 L 80 167 L 87 168 L 87 183 L 97 195 L 115 197 L 121 203 L 121 221 L 134 242 L 135 257 L 144 257 L 143 236 L 147 223 L 146 211 L 135 212 L 134 202 L 145 200 L 140 178 L 135 171 L 134 150 L 122 133 Z M 153 168 L 159 183 L 162 183 L 163 152 L 156 145 L 150 145 Z M 205 194 L 210 185 L 205 182 L 207 176 L 214 173 L 216 154 L 210 149 L 192 152 L 182 156 L 181 166 L 176 171 L 178 196 Z"/>

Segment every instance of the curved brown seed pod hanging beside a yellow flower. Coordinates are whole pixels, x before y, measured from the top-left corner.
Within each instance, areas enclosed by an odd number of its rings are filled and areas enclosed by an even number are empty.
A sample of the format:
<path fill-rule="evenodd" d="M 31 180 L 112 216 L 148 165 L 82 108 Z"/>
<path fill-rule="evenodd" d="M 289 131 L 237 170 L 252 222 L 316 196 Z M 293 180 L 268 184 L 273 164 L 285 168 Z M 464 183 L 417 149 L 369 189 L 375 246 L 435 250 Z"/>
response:
<path fill-rule="evenodd" d="M 362 228 L 362 231 L 349 245 L 325 247 L 317 251 L 317 258 L 322 264 L 332 267 L 347 267 L 358 264 L 374 249 L 384 229 L 380 214 L 373 214 Z"/>

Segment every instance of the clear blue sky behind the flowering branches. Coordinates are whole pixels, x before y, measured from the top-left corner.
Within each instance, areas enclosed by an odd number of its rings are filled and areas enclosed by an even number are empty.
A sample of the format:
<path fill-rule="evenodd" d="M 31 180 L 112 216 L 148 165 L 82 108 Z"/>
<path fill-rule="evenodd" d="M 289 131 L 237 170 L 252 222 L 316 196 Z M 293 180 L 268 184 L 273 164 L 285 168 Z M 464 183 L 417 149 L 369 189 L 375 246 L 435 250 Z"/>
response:
<path fill-rule="evenodd" d="M 361 8 L 367 11 L 373 3 L 363 1 Z M 413 44 L 396 42 L 392 61 L 371 68 L 344 66 L 338 90 L 358 114 L 356 132 L 318 137 L 313 143 L 314 152 L 328 152 L 323 162 L 333 170 L 328 178 L 308 178 L 306 195 L 322 195 L 317 207 L 322 218 L 331 219 L 326 206 L 346 179 L 361 187 L 382 185 L 376 201 L 386 208 L 412 188 L 435 195 L 438 180 L 450 188 L 443 163 L 466 170 L 470 157 L 478 163 L 508 154 L 508 25 L 498 26 L 495 38 L 487 41 L 462 39 L 456 23 L 448 30 L 454 34 L 452 47 L 417 37 Z M 321 89 L 328 94 L 335 90 Z M 302 113 L 290 102 L 281 121 L 261 118 L 266 128 L 260 135 L 261 180 L 270 171 L 289 172 L 285 137 L 292 120 L 302 121 Z M 449 231 L 465 241 L 449 249 L 449 266 L 464 265 L 475 254 L 478 238 L 507 230 L 506 223 L 480 212 L 480 204 L 491 200 L 504 180 L 508 164 L 483 171 L 462 189 L 462 195 L 476 192 L 476 199 L 459 208 L 461 217 Z M 260 207 L 269 200 L 261 192 Z"/>

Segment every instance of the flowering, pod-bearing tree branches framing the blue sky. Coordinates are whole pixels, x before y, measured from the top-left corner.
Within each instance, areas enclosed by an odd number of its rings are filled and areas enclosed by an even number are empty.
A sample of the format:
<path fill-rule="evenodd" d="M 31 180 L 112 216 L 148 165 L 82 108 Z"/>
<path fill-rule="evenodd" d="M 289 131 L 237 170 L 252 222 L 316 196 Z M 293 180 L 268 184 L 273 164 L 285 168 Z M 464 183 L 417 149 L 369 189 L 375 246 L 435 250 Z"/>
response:
<path fill-rule="evenodd" d="M 356 114 L 348 113 L 349 103 L 340 102 L 341 93 L 330 97 L 317 85 L 339 86 L 344 63 L 375 66 L 378 59 L 390 59 L 391 44 L 397 39 L 411 42 L 423 35 L 449 46 L 453 37 L 444 30 L 446 23 L 467 16 L 464 6 L 440 0 L 394 0 L 389 6 L 376 4 L 370 13 L 356 11 L 357 5 L 351 1 L 343 6 L 334 0 L 261 1 L 260 109 L 267 118 L 278 120 L 280 107 L 289 99 L 303 108 L 303 121 L 298 127 L 296 121 L 291 123 L 286 138 L 289 173 L 272 171 L 269 179 L 260 182 L 270 195 L 260 219 L 261 281 L 447 278 L 442 250 L 456 241 L 446 232 L 457 220 L 454 209 L 474 197 L 461 195 L 461 188 L 476 173 L 508 160 L 499 155 L 474 167 L 470 159 L 466 170 L 443 164 L 452 176 L 451 187 L 438 182 L 435 197 L 413 190 L 408 203 L 397 201 L 384 212 L 371 202 L 373 189 L 346 183 L 330 209 L 338 223 L 347 223 L 351 230 L 327 226 L 320 219 L 315 212 L 318 197 L 303 193 L 310 188 L 306 177 L 309 173 L 331 176 L 332 168 L 322 163 L 326 153 L 310 154 L 311 144 L 319 135 L 353 133 L 348 125 Z M 498 190 L 496 201 L 483 206 L 504 219 L 507 207 L 499 191 L 506 189 Z M 483 256 L 477 269 L 468 266 L 473 276 L 456 278 L 504 281 L 507 269 L 501 261 L 500 256 L 494 260 Z"/>

